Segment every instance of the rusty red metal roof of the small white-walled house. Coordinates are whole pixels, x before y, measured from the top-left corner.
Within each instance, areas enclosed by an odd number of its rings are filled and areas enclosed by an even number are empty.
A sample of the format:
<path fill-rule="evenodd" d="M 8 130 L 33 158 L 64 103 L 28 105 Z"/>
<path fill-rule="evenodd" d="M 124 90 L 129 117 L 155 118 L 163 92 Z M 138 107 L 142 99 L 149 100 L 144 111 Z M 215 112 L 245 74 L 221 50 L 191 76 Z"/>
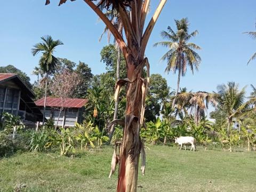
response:
<path fill-rule="evenodd" d="M 73 108 L 81 108 L 85 105 L 87 102 L 87 99 L 71 99 L 67 98 L 64 99 L 63 107 L 73 107 Z M 36 102 L 37 106 L 44 106 L 44 98 L 41 98 L 37 100 Z M 46 98 L 46 106 L 48 107 L 61 107 L 61 98 Z"/>

